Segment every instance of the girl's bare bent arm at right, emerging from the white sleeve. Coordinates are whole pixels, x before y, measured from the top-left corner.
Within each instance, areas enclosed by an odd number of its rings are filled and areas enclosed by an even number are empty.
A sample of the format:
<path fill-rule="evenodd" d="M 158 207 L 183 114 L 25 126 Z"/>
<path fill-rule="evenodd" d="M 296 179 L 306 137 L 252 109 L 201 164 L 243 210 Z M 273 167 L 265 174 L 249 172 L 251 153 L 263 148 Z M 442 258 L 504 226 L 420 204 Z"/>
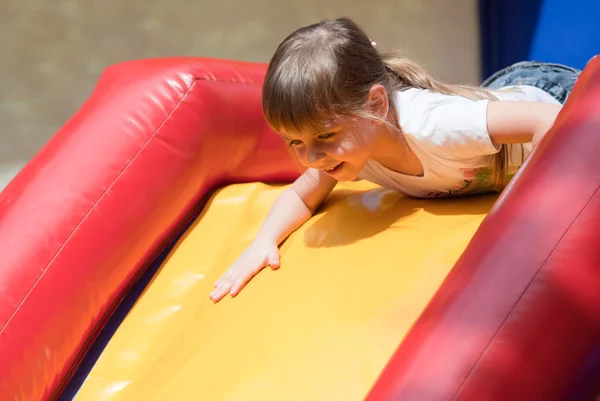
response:
<path fill-rule="evenodd" d="M 487 126 L 492 141 L 533 146 L 550 130 L 562 106 L 538 102 L 490 102 Z"/>

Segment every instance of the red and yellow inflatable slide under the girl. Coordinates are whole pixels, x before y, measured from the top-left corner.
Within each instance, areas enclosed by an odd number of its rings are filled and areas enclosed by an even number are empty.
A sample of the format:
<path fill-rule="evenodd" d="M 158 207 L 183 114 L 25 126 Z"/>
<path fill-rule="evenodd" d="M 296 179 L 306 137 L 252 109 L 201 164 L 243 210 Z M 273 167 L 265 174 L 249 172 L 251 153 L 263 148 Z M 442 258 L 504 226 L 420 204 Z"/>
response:
<path fill-rule="evenodd" d="M 340 185 L 208 295 L 299 170 L 266 65 L 114 65 L 0 195 L 2 401 L 550 401 L 600 390 L 600 59 L 500 196 Z"/>

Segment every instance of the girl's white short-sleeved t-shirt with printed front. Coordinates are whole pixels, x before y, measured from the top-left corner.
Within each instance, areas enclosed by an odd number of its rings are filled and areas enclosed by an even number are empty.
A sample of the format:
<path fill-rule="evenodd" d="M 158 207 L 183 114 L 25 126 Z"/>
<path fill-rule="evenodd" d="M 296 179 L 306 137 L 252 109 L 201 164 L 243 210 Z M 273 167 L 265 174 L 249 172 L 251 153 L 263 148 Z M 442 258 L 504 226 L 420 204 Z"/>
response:
<path fill-rule="evenodd" d="M 493 91 L 500 100 L 560 104 L 533 86 Z M 509 89 L 509 88 L 503 88 Z M 400 127 L 423 165 L 423 176 L 392 171 L 369 160 L 358 179 L 419 198 L 456 196 L 491 191 L 491 162 L 500 150 L 487 131 L 488 100 L 470 100 L 425 89 L 395 93 Z M 509 177 L 531 152 L 531 143 L 510 145 Z"/>

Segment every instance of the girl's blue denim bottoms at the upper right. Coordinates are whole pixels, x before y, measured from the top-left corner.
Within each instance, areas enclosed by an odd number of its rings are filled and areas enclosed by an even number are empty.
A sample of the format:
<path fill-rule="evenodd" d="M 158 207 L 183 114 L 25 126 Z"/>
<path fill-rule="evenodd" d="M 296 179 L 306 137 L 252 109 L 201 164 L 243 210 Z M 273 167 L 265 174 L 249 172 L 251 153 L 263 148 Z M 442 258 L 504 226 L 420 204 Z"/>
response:
<path fill-rule="evenodd" d="M 488 89 L 512 85 L 535 86 L 564 104 L 580 73 L 581 70 L 561 64 L 522 61 L 496 72 L 483 81 L 481 86 Z"/>

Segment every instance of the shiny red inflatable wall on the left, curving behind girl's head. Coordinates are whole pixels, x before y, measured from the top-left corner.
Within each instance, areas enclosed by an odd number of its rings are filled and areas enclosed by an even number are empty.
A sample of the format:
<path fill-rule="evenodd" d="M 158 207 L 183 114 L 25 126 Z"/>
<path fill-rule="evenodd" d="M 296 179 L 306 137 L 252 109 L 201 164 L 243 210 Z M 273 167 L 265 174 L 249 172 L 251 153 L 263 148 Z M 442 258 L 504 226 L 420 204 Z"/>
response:
<path fill-rule="evenodd" d="M 0 195 L 0 395 L 47 400 L 211 188 L 299 170 L 260 109 L 266 66 L 109 68 Z"/>

